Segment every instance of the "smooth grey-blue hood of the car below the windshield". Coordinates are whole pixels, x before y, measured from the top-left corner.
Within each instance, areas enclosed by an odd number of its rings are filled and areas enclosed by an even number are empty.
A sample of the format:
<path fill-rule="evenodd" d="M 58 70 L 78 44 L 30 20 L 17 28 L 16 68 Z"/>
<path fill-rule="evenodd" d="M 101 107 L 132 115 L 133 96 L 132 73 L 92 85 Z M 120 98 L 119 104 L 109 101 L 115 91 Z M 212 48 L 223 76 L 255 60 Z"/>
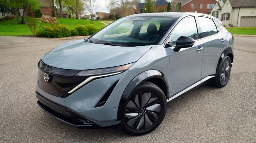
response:
<path fill-rule="evenodd" d="M 136 62 L 152 46 L 120 47 L 75 40 L 64 43 L 42 57 L 52 67 L 89 70 Z"/>

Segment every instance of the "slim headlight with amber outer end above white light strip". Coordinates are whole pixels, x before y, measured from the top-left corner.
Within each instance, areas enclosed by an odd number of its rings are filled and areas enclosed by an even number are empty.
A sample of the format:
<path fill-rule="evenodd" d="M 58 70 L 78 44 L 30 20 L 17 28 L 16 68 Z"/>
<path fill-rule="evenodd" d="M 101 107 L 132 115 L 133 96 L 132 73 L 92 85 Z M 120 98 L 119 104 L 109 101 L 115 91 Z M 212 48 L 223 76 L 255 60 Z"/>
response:
<path fill-rule="evenodd" d="M 96 70 L 85 70 L 80 71 L 76 76 L 92 76 L 92 75 L 99 75 L 99 74 L 108 74 L 108 73 L 114 73 L 119 71 L 125 71 L 129 69 L 134 63 L 130 63 L 127 65 L 112 67 L 112 68 L 105 68 L 105 69 L 96 69 Z"/>

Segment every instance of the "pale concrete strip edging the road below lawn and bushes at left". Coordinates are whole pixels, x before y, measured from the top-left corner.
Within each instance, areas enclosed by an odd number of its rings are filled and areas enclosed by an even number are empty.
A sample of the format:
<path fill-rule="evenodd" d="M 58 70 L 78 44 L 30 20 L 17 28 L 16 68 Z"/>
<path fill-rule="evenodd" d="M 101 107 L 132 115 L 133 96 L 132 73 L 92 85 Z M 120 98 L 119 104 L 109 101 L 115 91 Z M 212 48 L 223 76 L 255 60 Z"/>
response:
<path fill-rule="evenodd" d="M 41 37 L 21 37 L 21 36 L 0 36 L 0 46 L 19 44 L 19 43 L 33 43 L 38 41 L 53 41 L 53 40 L 67 40 L 67 39 L 84 39 L 90 36 L 73 36 L 73 37 L 62 37 L 62 38 L 41 38 Z"/>

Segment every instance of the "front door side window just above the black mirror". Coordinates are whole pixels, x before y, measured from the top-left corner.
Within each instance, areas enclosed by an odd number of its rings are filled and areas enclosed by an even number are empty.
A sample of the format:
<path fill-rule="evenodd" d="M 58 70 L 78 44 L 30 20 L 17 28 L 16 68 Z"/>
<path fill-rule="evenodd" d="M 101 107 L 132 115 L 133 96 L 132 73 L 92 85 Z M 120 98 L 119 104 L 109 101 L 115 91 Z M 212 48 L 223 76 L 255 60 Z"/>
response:
<path fill-rule="evenodd" d="M 198 39 L 197 25 L 194 17 L 189 17 L 181 21 L 171 34 L 172 45 L 176 45 L 176 40 L 181 36 Z"/>

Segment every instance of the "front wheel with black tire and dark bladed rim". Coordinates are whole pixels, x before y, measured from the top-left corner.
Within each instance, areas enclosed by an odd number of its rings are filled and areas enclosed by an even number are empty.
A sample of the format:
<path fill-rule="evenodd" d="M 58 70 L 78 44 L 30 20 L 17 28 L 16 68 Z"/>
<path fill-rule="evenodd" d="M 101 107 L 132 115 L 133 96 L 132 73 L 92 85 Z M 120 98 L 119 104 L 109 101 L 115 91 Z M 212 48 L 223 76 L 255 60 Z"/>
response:
<path fill-rule="evenodd" d="M 144 135 L 155 130 L 166 113 L 166 97 L 151 82 L 143 82 L 127 99 L 122 131 L 129 135 Z"/>

